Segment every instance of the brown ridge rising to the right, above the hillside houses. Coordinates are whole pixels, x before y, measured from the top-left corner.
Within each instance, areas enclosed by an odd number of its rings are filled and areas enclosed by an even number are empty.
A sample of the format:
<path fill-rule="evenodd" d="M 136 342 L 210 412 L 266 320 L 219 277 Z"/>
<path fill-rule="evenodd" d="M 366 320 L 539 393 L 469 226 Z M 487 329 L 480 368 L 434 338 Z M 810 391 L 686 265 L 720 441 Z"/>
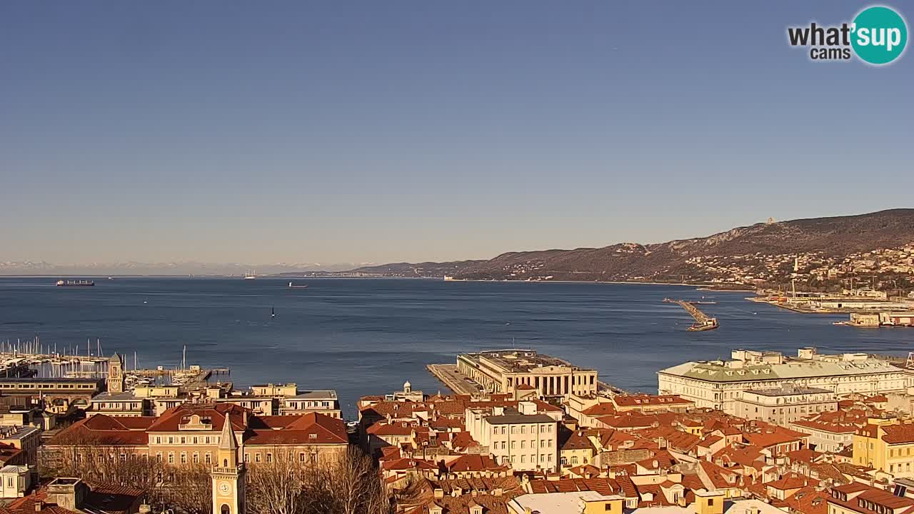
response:
<path fill-rule="evenodd" d="M 719 282 L 726 272 L 718 273 L 705 262 L 736 262 L 732 264 L 734 270 L 749 270 L 737 273 L 752 276 L 751 270 L 763 268 L 766 261 L 771 267 L 772 256 L 809 253 L 820 261 L 831 262 L 854 253 L 897 248 L 911 241 L 914 209 L 891 209 L 856 216 L 769 220 L 704 238 L 655 244 L 622 242 L 602 248 L 507 252 L 484 261 L 397 262 L 364 266 L 350 273 L 447 275 L 468 280 Z M 792 264 L 793 257 L 781 261 Z M 789 273 L 789 269 L 784 271 Z"/>

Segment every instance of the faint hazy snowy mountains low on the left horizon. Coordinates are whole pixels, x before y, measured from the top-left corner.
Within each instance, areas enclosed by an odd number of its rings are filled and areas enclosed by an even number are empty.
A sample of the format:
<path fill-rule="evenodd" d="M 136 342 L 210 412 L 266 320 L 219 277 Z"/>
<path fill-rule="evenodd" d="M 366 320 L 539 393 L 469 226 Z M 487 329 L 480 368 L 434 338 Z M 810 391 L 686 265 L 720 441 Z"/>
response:
<path fill-rule="evenodd" d="M 100 262 L 91 264 L 53 264 L 50 262 L 0 262 L 0 275 L 241 275 L 333 273 L 351 270 L 352 262 L 323 264 L 273 263 L 243 264 L 218 262 Z"/>

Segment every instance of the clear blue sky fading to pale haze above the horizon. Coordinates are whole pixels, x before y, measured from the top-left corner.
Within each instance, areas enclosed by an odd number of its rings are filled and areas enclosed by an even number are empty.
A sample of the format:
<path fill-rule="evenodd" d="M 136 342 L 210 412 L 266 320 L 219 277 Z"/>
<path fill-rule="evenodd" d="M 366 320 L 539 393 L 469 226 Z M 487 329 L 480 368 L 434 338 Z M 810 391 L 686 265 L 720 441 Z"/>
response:
<path fill-rule="evenodd" d="M 787 44 L 866 5 L 3 2 L 0 261 L 485 258 L 911 207 L 911 51 Z"/>

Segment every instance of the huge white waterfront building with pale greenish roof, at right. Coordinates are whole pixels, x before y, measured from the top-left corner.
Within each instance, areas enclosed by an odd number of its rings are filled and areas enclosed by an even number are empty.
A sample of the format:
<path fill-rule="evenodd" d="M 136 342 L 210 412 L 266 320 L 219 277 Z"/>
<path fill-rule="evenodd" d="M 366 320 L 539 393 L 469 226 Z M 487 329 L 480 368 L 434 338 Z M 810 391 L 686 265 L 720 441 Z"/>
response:
<path fill-rule="evenodd" d="M 657 371 L 660 394 L 678 394 L 696 407 L 738 414 L 745 391 L 797 386 L 831 391 L 877 394 L 905 391 L 904 369 L 864 353 L 820 355 L 800 348 L 797 357 L 781 352 L 733 350 L 728 361 L 691 361 Z"/>

